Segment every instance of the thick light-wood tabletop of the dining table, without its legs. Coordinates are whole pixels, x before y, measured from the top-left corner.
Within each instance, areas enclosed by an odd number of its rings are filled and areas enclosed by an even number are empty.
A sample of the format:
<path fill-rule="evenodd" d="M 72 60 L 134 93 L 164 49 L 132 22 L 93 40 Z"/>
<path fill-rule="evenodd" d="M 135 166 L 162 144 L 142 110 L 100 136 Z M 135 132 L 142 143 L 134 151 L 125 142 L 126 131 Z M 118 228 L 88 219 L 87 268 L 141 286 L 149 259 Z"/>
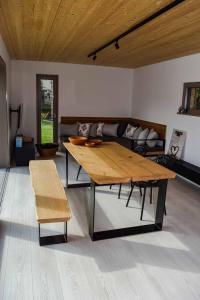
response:
<path fill-rule="evenodd" d="M 64 147 L 97 184 L 175 178 L 176 174 L 115 142 L 94 148 L 64 143 Z"/>

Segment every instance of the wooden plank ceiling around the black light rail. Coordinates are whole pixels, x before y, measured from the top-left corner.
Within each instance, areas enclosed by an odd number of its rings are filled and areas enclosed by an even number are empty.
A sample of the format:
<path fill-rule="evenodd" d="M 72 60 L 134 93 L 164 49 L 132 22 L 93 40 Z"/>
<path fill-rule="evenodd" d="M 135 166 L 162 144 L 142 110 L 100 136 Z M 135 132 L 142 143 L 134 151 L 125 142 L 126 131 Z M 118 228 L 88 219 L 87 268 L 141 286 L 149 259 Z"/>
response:
<path fill-rule="evenodd" d="M 87 55 L 172 0 L 1 0 L 0 34 L 12 59 L 135 68 L 200 51 L 200 0 L 177 7 Z"/>

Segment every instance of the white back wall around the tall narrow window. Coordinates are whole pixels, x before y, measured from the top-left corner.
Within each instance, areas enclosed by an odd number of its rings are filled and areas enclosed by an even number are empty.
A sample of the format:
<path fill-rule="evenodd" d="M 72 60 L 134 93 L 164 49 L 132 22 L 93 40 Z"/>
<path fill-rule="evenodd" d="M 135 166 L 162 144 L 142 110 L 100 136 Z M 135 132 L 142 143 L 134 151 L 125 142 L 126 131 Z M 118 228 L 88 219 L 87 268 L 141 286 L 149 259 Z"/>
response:
<path fill-rule="evenodd" d="M 59 75 L 60 116 L 130 116 L 132 70 L 11 61 L 11 101 L 24 104 L 24 134 L 36 136 L 36 74 Z"/>

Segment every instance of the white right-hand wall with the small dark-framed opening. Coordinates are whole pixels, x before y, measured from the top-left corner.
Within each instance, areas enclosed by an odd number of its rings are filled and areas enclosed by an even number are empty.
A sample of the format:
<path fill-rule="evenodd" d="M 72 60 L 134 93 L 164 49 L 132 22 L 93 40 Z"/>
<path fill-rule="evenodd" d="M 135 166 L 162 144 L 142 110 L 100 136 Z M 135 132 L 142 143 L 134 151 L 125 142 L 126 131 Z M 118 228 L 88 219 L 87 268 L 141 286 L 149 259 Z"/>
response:
<path fill-rule="evenodd" d="M 167 147 L 172 129 L 187 131 L 184 160 L 200 166 L 200 117 L 177 115 L 184 82 L 200 82 L 200 54 L 134 70 L 134 117 L 167 125 Z"/>

